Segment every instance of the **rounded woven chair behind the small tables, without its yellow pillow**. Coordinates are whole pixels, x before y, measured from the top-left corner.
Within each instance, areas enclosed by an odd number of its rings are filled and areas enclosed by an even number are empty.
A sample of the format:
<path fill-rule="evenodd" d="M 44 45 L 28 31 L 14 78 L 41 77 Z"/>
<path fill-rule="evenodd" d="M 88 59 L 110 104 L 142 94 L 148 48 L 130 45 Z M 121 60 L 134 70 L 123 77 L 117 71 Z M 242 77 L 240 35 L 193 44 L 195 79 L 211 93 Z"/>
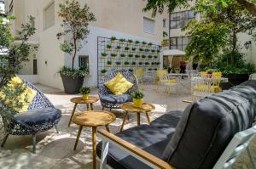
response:
<path fill-rule="evenodd" d="M 131 87 L 128 91 L 121 95 L 114 95 L 108 87 L 105 87 L 104 83 L 110 81 L 115 77 L 118 73 L 121 73 L 125 79 L 133 84 L 133 87 Z M 137 77 L 132 74 L 129 70 L 115 70 L 112 72 L 109 72 L 99 83 L 99 97 L 102 104 L 102 110 L 104 108 L 112 109 L 119 109 L 120 104 L 124 104 L 126 102 L 131 102 L 131 93 L 136 91 L 138 88 L 138 82 Z"/>

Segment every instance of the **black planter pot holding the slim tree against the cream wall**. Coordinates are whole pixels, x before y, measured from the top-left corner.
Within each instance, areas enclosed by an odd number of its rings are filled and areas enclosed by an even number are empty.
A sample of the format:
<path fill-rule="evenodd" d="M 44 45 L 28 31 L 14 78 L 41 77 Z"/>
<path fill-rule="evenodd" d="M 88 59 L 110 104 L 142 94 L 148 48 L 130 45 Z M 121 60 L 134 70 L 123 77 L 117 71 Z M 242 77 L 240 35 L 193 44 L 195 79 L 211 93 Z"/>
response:
<path fill-rule="evenodd" d="M 80 88 L 83 86 L 84 77 L 73 78 L 71 76 L 61 75 L 65 93 L 77 94 Z"/>

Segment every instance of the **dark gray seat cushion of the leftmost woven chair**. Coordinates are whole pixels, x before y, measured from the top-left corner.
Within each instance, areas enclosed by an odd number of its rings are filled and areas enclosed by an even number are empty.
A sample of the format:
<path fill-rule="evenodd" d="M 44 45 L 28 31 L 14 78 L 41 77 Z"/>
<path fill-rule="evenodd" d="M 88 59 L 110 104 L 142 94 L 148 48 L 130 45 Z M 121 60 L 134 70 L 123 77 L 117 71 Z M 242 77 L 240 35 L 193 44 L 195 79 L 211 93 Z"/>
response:
<path fill-rule="evenodd" d="M 55 124 L 61 118 L 61 110 L 55 108 L 45 108 L 28 110 L 23 113 L 18 113 L 14 116 L 14 121 L 31 128 L 34 132 L 39 132 L 37 130 L 44 130 Z"/>

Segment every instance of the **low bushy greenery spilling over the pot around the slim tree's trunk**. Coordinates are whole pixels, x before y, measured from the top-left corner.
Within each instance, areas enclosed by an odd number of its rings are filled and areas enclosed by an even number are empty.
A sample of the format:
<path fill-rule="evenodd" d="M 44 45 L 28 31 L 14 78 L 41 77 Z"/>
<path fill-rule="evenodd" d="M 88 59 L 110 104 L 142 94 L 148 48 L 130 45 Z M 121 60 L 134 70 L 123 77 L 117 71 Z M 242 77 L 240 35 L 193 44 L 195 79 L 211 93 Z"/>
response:
<path fill-rule="evenodd" d="M 80 67 L 79 69 L 72 69 L 67 66 L 63 66 L 58 71 L 58 73 L 60 73 L 61 75 L 64 75 L 64 76 L 70 76 L 73 78 L 77 78 L 77 77 L 84 77 L 84 76 L 88 75 L 89 69 L 88 69 L 88 66 Z"/>

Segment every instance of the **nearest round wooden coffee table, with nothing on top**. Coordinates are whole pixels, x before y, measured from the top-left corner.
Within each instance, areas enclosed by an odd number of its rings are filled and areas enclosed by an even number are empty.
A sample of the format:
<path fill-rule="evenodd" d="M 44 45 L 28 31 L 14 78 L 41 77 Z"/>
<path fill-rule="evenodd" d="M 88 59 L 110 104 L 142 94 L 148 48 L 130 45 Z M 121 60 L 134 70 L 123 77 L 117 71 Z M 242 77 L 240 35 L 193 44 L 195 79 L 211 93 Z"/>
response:
<path fill-rule="evenodd" d="M 113 113 L 101 110 L 84 111 L 73 116 L 72 121 L 79 125 L 79 133 L 73 147 L 74 150 L 77 149 L 83 127 L 92 127 L 92 159 L 94 169 L 96 168 L 96 127 L 105 126 L 109 132 L 108 124 L 115 121 L 115 118 Z"/>

